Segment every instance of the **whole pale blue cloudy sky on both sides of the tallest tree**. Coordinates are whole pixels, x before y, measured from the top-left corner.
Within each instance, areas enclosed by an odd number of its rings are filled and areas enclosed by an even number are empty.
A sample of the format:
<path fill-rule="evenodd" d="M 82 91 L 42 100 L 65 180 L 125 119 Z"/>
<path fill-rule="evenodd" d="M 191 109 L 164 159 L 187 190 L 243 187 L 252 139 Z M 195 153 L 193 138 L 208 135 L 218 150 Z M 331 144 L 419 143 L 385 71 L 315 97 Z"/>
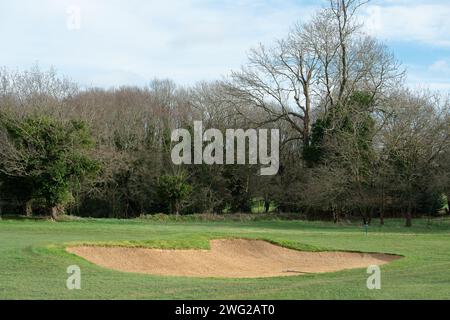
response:
<path fill-rule="evenodd" d="M 2 0 L 0 65 L 54 66 L 86 86 L 145 85 L 155 77 L 189 85 L 228 74 L 245 63 L 251 47 L 283 37 L 325 4 Z M 76 21 L 74 8 L 80 10 L 75 29 L 68 27 Z M 361 18 L 408 68 L 410 86 L 450 92 L 450 1 L 372 0 Z"/>

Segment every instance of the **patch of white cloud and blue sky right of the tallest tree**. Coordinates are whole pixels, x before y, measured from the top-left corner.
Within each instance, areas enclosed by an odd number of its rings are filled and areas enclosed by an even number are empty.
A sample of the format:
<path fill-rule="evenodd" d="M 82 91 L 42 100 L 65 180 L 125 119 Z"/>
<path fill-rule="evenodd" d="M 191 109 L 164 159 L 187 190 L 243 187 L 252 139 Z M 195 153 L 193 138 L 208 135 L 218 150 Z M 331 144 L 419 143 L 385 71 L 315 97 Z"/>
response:
<path fill-rule="evenodd" d="M 373 36 L 395 43 L 396 48 L 408 48 L 403 49 L 408 86 L 450 92 L 448 0 L 373 0 L 362 18 Z"/>

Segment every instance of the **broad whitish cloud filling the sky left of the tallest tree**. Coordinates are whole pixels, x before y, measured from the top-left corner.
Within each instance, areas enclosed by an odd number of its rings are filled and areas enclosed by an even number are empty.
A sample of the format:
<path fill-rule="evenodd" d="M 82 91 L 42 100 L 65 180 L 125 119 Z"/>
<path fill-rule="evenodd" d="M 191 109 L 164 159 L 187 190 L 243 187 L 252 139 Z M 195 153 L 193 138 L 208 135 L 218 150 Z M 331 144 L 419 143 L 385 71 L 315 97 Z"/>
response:
<path fill-rule="evenodd" d="M 81 10 L 80 30 L 66 28 L 70 6 Z M 187 84 L 239 67 L 252 46 L 284 36 L 311 12 L 295 0 L 2 1 L 0 37 L 9 46 L 0 61 L 78 68 L 75 80 L 98 86 L 154 77 Z"/>

